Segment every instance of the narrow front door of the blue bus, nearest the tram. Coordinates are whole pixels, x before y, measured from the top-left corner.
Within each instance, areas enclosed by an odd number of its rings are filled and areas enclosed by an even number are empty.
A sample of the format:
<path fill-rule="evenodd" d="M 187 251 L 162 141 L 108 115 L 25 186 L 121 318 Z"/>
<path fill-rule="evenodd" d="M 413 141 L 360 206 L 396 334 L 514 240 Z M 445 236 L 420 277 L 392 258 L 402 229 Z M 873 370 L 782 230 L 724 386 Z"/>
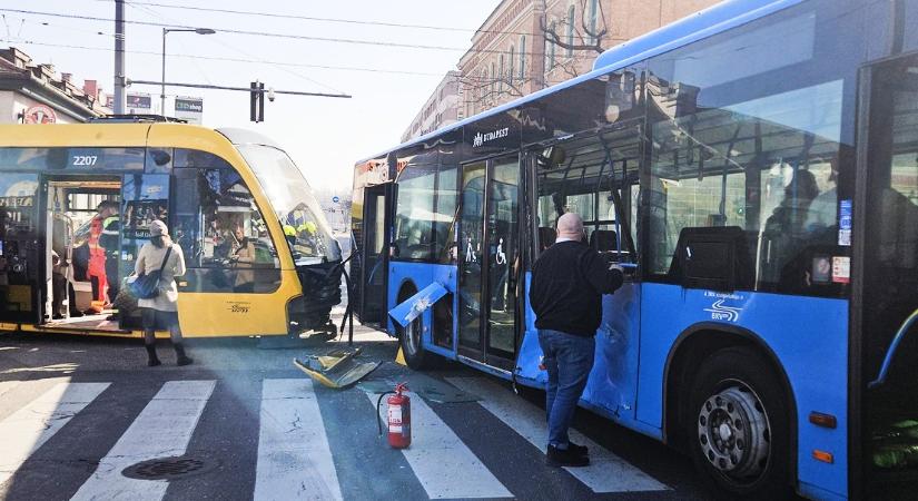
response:
<path fill-rule="evenodd" d="M 388 200 L 392 199 L 392 184 L 371 186 L 364 190 L 363 236 L 358 242 L 362 273 L 361 295 L 357 301 L 357 316 L 365 324 L 384 326 L 386 323 L 386 277 L 388 275 L 389 222 Z M 348 298 L 349 301 L 349 298 Z"/>

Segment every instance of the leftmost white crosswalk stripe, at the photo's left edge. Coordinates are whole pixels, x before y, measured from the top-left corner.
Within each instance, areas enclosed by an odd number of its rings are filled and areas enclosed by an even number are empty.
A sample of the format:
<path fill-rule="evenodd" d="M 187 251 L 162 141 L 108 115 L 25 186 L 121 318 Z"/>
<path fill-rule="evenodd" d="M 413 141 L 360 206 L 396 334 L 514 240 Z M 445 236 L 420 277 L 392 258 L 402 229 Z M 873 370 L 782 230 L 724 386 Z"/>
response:
<path fill-rule="evenodd" d="M 0 484 L 78 412 L 96 400 L 108 383 L 58 383 L 0 421 Z M 0 394 L 12 386 L 4 386 Z"/>

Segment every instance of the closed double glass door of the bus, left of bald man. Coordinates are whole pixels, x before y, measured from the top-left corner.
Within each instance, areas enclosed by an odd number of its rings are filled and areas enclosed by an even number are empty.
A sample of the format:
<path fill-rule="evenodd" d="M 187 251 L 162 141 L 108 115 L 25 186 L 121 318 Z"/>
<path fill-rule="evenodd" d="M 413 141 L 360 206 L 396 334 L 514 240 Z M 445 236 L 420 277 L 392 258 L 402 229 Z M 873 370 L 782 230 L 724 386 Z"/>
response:
<path fill-rule="evenodd" d="M 519 330 L 520 160 L 462 167 L 460 355 L 512 370 Z"/>

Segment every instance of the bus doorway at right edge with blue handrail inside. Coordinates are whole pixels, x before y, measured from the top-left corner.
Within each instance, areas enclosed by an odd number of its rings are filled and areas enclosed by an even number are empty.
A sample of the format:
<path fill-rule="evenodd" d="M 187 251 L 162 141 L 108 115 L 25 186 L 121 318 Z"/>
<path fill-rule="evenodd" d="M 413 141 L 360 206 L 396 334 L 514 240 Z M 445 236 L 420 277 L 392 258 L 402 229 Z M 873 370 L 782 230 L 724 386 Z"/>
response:
<path fill-rule="evenodd" d="M 852 497 L 906 499 L 918 485 L 918 53 L 867 68 L 865 76 L 867 149 L 858 170 L 866 183 L 859 183 L 853 225 L 860 263 L 835 257 L 832 272 L 847 281 L 850 269 L 855 285 L 852 350 L 860 352 L 861 377 L 852 379 L 852 401 L 861 394 L 855 414 L 861 425 L 851 428 L 862 468 L 852 471 Z M 842 240 L 851 200 L 838 204 Z"/>

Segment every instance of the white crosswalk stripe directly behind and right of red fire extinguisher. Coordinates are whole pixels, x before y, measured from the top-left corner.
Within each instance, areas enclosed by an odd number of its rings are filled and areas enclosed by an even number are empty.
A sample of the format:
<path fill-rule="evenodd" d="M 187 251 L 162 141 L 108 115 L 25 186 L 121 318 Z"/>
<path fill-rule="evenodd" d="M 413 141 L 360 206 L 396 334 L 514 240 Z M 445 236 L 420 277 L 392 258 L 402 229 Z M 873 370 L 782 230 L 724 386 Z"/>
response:
<path fill-rule="evenodd" d="M 379 397 L 367 393 L 376 405 Z M 412 405 L 412 444 L 402 453 L 431 499 L 511 498 L 513 494 L 494 477 L 450 426 L 416 394 Z M 383 399 L 385 413 L 385 399 Z M 384 424 L 385 425 L 385 424 Z"/>

